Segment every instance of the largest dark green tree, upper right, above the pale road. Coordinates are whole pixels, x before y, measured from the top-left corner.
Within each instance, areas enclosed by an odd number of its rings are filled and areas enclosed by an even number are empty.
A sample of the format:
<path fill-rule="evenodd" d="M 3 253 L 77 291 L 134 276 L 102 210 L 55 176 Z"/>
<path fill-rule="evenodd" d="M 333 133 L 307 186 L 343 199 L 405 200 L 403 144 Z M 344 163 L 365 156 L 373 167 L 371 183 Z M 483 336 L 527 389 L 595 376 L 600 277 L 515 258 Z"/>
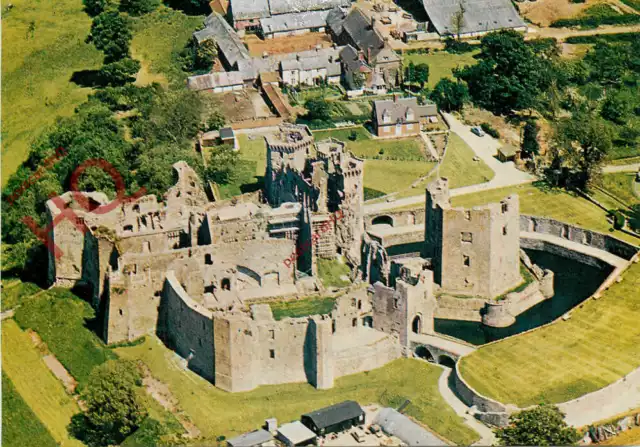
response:
<path fill-rule="evenodd" d="M 538 95 L 551 83 L 549 59 L 536 53 L 515 31 L 483 37 L 479 58 L 478 64 L 456 76 L 467 82 L 474 103 L 496 114 L 534 107 Z"/>

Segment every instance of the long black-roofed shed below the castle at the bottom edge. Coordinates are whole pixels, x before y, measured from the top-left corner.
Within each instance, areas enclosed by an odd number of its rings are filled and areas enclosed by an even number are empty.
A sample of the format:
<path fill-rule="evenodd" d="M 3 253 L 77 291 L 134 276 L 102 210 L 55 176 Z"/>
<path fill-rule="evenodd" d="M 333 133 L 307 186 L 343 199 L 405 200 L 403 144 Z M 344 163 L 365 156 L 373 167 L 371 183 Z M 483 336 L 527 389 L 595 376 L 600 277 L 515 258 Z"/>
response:
<path fill-rule="evenodd" d="M 303 414 L 300 421 L 317 435 L 324 436 L 364 424 L 364 410 L 357 402 L 346 400 Z"/>

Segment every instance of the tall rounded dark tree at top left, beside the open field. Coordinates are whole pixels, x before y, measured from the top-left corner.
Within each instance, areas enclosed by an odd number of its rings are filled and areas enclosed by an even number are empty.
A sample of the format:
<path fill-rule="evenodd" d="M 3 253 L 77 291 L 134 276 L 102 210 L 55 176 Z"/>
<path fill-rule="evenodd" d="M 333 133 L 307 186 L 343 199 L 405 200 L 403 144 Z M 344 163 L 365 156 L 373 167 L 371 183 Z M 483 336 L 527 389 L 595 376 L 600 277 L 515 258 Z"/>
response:
<path fill-rule="evenodd" d="M 93 19 L 89 40 L 111 62 L 129 56 L 131 37 L 129 18 L 117 11 L 105 11 Z"/>

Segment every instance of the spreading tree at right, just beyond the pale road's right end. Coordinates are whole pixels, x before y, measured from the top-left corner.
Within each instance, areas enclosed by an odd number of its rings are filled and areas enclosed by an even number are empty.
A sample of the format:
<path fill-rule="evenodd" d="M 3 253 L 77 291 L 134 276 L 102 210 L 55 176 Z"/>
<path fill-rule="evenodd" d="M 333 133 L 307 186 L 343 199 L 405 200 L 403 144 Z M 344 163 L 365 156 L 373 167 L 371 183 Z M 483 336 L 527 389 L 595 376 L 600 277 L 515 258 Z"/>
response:
<path fill-rule="evenodd" d="M 587 112 L 561 119 L 553 137 L 556 167 L 575 170 L 575 184 L 586 188 L 599 174 L 602 162 L 613 147 L 613 130 L 602 119 Z"/>

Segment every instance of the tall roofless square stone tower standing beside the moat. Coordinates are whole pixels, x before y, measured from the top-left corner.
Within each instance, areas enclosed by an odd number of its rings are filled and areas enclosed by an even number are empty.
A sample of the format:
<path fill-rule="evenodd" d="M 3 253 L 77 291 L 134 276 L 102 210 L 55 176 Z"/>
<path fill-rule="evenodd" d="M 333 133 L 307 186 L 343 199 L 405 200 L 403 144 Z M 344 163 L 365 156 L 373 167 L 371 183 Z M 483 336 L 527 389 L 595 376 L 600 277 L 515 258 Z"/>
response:
<path fill-rule="evenodd" d="M 517 195 L 471 209 L 452 208 L 446 178 L 426 192 L 424 255 L 444 292 L 496 297 L 520 276 Z"/>

